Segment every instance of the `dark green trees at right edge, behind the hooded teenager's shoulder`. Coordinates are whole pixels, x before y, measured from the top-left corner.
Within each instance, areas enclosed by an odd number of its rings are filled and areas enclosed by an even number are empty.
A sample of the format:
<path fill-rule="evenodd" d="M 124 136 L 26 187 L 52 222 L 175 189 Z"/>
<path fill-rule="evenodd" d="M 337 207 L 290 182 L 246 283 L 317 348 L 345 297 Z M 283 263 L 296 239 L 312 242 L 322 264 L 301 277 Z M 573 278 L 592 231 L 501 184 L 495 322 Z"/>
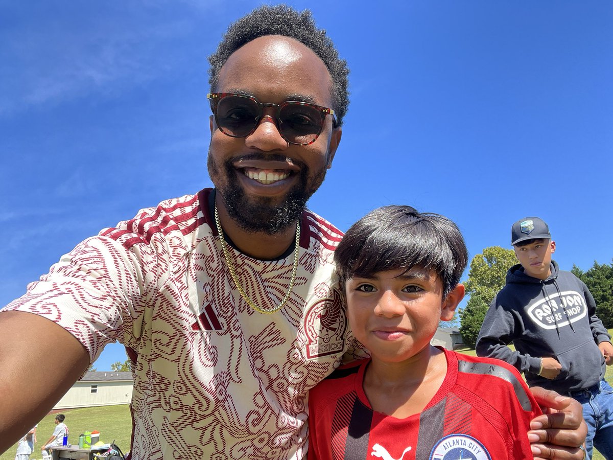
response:
<path fill-rule="evenodd" d="M 596 301 L 596 315 L 607 329 L 613 328 L 613 261 L 599 264 L 594 261 L 592 268 L 584 272 L 573 265 L 573 274 L 585 283 Z"/>

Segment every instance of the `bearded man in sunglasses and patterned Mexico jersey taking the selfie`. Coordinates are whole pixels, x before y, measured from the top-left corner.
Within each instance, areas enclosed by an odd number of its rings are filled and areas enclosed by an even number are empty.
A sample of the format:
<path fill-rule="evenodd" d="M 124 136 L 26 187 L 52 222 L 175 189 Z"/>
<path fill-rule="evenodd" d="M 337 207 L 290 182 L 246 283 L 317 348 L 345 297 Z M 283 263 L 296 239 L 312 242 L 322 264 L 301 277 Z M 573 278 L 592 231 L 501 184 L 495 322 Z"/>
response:
<path fill-rule="evenodd" d="M 0 332 L 29 331 L 0 350 L 0 394 L 15 395 L 0 451 L 118 340 L 132 459 L 305 456 L 308 390 L 360 354 L 332 261 L 342 233 L 305 209 L 341 139 L 348 69 L 310 13 L 285 6 L 234 23 L 210 63 L 215 189 L 85 240 L 0 313 Z M 20 397 L 5 376 L 48 343 Z M 546 401 L 563 412 L 533 436 L 569 447 L 538 444 L 543 458 L 582 458 L 581 407 L 565 401 Z"/>

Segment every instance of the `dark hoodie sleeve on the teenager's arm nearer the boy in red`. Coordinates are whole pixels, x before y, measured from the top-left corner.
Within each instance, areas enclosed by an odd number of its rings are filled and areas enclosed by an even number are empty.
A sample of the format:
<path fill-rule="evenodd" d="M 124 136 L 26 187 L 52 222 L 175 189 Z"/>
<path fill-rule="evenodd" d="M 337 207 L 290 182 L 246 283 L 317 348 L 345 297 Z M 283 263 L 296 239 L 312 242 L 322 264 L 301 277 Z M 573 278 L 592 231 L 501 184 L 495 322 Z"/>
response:
<path fill-rule="evenodd" d="M 517 324 L 512 313 L 504 308 L 500 296 L 494 297 L 477 337 L 477 356 L 501 359 L 515 366 L 519 372 L 538 374 L 541 369 L 540 358 L 522 355 L 508 347 L 509 343 L 516 339 L 516 334 L 521 334 L 521 331 L 516 329 Z"/>

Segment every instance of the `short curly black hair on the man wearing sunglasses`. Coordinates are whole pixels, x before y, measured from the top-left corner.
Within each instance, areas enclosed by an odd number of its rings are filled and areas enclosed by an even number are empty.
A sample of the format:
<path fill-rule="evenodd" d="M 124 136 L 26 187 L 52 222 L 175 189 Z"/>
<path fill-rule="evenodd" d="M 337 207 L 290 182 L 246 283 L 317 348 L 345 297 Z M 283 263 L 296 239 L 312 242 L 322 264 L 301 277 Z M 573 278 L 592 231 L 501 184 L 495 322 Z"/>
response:
<path fill-rule="evenodd" d="M 324 61 L 332 76 L 332 103 L 337 125 L 343 124 L 343 117 L 349 105 L 347 61 L 338 57 L 330 37 L 324 29 L 318 29 L 309 10 L 297 12 L 287 5 L 264 5 L 230 24 L 217 50 L 208 56 L 211 64 L 208 82 L 211 92 L 216 90 L 219 71 L 227 59 L 238 48 L 258 37 L 281 35 L 298 40 Z"/>

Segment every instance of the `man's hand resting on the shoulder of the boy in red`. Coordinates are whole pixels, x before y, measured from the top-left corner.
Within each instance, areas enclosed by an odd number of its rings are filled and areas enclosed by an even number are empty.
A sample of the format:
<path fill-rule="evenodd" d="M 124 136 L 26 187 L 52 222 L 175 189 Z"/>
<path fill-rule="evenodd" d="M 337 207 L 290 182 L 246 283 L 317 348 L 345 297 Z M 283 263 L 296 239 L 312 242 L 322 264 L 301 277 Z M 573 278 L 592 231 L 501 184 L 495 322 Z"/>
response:
<path fill-rule="evenodd" d="M 535 460 L 582 460 L 587 425 L 583 420 L 583 407 L 571 397 L 560 396 L 539 386 L 530 388 L 543 415 L 530 421 L 528 440 Z"/>

